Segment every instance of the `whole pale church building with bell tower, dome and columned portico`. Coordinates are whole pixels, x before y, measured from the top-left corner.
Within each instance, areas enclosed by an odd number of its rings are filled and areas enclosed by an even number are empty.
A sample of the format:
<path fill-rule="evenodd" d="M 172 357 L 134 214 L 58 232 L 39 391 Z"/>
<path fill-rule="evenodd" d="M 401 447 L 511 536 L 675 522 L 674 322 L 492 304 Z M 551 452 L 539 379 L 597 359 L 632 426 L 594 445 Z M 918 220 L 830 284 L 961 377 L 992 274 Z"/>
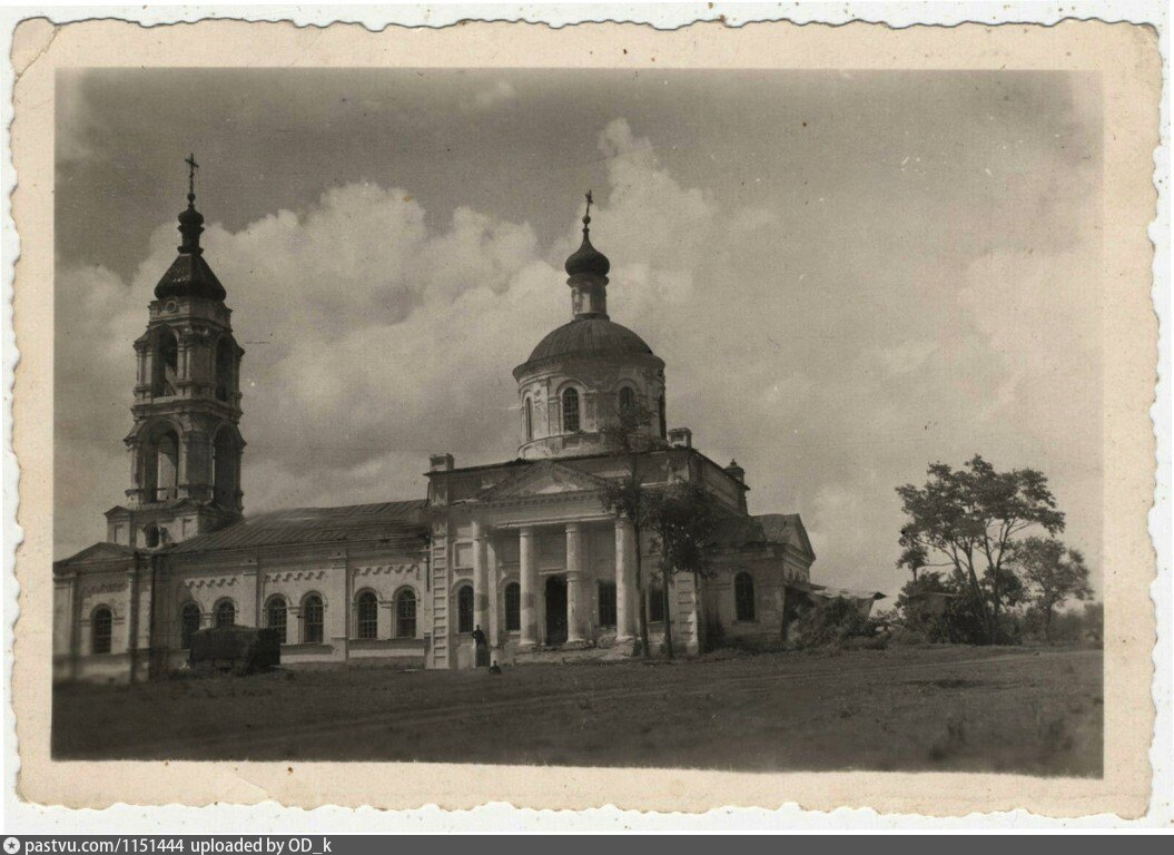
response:
<path fill-rule="evenodd" d="M 646 610 L 653 645 L 667 622 L 675 648 L 696 653 L 778 638 L 797 598 L 819 587 L 798 514 L 751 516 L 744 471 L 668 429 L 664 363 L 608 316 L 589 196 L 566 262 L 572 319 L 513 372 L 514 458 L 458 466 L 437 453 L 416 499 L 245 516 L 244 351 L 191 190 L 178 255 L 134 343 L 130 486 L 106 513 L 107 539 L 53 567 L 56 679 L 166 673 L 187 661 L 193 633 L 232 624 L 277 630 L 285 664 L 468 668 L 475 631 L 500 664 L 626 655 Z M 711 572 L 657 579 L 654 540 L 600 498 L 632 474 L 648 489 L 706 487 L 720 517 Z"/>

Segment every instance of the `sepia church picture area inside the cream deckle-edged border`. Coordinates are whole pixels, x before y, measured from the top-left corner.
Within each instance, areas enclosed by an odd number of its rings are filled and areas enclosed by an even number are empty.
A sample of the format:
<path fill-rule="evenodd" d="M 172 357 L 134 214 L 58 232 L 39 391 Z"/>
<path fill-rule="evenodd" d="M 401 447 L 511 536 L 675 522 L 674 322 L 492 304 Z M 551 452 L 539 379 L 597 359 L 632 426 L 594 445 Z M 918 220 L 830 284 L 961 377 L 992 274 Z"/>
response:
<path fill-rule="evenodd" d="M 53 73 L 47 762 L 1104 782 L 1104 75 L 446 56 Z"/>

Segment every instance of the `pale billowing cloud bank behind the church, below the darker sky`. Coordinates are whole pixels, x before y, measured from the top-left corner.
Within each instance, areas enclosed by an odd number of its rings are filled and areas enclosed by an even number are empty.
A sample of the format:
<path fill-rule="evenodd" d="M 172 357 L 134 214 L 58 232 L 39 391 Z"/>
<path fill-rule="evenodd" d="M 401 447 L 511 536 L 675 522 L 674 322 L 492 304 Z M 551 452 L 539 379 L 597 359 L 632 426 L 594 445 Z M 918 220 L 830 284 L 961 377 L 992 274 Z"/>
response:
<path fill-rule="evenodd" d="M 1098 537 L 1099 411 L 1085 389 L 1099 307 L 1079 235 L 943 262 L 900 245 L 904 230 L 929 240 L 916 224 L 883 231 L 898 218 L 864 204 L 720 200 L 623 119 L 598 148 L 592 240 L 612 260 L 612 318 L 666 361 L 669 422 L 747 467 L 751 511 L 804 516 L 819 581 L 898 586 L 893 487 L 976 451 L 1043 466 L 1075 545 Z M 561 263 L 581 224 L 568 213 L 542 241 L 492 211 L 426 211 L 403 184 L 344 183 L 208 227 L 247 350 L 249 512 L 423 497 L 430 452 L 458 465 L 515 453 L 511 370 L 571 317 Z M 1038 201 L 1048 186 L 1021 193 Z M 59 554 L 100 538 L 122 497 L 130 345 L 174 254 L 164 223 L 129 281 L 59 271 Z"/>

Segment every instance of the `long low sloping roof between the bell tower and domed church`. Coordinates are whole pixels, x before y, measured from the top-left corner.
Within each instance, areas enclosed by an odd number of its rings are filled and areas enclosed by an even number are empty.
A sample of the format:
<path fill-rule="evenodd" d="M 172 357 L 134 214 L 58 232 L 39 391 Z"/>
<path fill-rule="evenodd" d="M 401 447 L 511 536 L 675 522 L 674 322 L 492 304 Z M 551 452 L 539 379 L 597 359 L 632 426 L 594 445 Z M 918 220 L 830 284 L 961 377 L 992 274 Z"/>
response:
<path fill-rule="evenodd" d="M 423 500 L 343 507 L 295 507 L 249 517 L 235 525 L 176 544 L 169 554 L 212 550 L 343 544 L 383 538 L 424 538 Z"/>

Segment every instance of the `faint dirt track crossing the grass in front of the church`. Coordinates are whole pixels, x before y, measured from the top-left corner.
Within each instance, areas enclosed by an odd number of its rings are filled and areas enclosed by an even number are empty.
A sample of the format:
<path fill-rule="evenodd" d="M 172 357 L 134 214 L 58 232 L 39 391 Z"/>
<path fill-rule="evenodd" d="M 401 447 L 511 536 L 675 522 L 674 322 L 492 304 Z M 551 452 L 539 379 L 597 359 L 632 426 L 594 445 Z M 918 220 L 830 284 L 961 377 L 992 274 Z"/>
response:
<path fill-rule="evenodd" d="M 446 702 L 427 707 L 417 707 L 409 711 L 384 711 L 378 714 L 357 716 L 353 719 L 338 718 L 332 720 L 306 722 L 282 727 L 274 733 L 258 733 L 249 729 L 243 732 L 227 733 L 212 740 L 202 741 L 200 745 L 201 756 L 217 758 L 257 758 L 269 756 L 274 749 L 289 745 L 291 741 L 311 742 L 322 739 L 330 741 L 332 734 L 345 731 L 349 739 L 355 739 L 364 734 L 376 735 L 387 729 L 390 725 L 397 728 L 424 727 L 427 725 L 444 722 L 451 725 L 466 721 L 468 719 L 486 718 L 492 714 L 510 714 L 524 712 L 556 712 L 567 706 L 586 708 L 585 705 L 600 705 L 613 700 L 654 698 L 667 695 L 676 699 L 700 698 L 715 693 L 726 696 L 760 694 L 764 691 L 777 689 L 780 684 L 811 682 L 819 680 L 842 681 L 844 678 L 876 676 L 878 674 L 909 674 L 932 671 L 949 671 L 964 668 L 977 668 L 986 666 L 999 666 L 1000 664 L 1018 661 L 1025 658 L 1033 658 L 1037 661 L 1045 659 L 1071 659 L 1073 657 L 1094 658 L 1099 657 L 1099 651 L 1044 651 L 1034 655 L 1027 653 L 1012 653 L 994 657 L 971 657 L 966 659 L 953 659 L 932 662 L 897 662 L 884 664 L 873 662 L 868 666 L 852 667 L 825 667 L 814 671 L 777 671 L 758 672 L 753 674 L 723 675 L 721 673 L 706 673 L 703 680 L 689 680 L 682 672 L 681 678 L 669 682 L 656 681 L 647 687 L 616 687 L 596 689 L 576 689 L 571 692 L 553 692 L 535 694 L 522 698 L 508 698 L 502 700 L 485 700 L 470 702 Z M 573 666 L 574 667 L 574 666 Z M 632 667 L 632 666 L 615 666 Z M 694 668 L 693 664 L 683 664 L 681 668 Z M 694 675 L 697 675 L 694 672 Z M 675 674 L 674 674 L 675 676 Z M 700 675 L 699 675 L 700 676 Z M 508 680 L 508 675 L 502 678 Z M 687 681 L 688 680 L 688 681 Z M 129 756 L 175 756 L 176 743 L 174 738 L 167 741 L 156 740 L 153 742 L 137 742 L 127 746 Z M 115 749 L 117 750 L 117 749 Z"/>

